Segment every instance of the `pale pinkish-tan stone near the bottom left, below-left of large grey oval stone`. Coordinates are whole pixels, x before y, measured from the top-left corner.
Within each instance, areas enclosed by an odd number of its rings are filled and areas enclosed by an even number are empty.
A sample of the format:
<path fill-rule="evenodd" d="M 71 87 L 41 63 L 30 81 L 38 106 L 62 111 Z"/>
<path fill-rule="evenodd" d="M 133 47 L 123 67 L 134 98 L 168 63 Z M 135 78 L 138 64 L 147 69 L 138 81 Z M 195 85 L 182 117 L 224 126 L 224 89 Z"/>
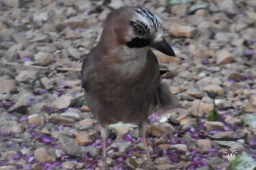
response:
<path fill-rule="evenodd" d="M 45 148 L 38 148 L 35 150 L 35 160 L 42 162 L 42 163 L 54 163 L 56 161 L 56 155 L 53 153 L 50 153 Z"/>

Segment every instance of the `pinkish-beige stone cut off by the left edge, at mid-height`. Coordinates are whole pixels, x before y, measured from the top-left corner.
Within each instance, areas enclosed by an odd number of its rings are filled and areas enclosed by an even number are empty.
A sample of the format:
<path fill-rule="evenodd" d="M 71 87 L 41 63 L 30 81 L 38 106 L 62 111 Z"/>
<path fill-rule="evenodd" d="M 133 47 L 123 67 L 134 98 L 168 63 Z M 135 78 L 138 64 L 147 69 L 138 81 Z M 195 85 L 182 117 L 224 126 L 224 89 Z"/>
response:
<path fill-rule="evenodd" d="M 16 86 L 14 80 L 0 78 L 0 93 L 10 95 L 15 91 Z"/>

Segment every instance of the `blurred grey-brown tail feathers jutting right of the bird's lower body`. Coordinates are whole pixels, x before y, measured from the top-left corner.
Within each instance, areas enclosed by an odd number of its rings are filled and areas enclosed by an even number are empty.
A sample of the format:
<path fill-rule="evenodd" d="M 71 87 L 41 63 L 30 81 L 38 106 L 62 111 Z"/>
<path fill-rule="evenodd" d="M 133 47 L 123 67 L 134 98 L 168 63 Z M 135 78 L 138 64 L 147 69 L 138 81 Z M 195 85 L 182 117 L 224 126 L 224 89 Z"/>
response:
<path fill-rule="evenodd" d="M 161 82 L 160 88 L 158 88 L 156 105 L 159 114 L 164 114 L 180 105 L 177 97 L 170 92 L 169 86 L 165 82 Z"/>

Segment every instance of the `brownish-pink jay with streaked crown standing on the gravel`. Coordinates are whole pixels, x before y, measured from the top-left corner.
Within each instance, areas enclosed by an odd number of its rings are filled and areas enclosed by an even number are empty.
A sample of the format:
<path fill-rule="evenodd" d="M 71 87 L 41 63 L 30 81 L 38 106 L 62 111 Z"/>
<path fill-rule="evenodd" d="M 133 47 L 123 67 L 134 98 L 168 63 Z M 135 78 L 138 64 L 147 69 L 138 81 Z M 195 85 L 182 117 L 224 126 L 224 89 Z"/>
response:
<path fill-rule="evenodd" d="M 106 16 L 98 44 L 85 56 L 81 84 L 87 106 L 100 127 L 103 167 L 109 124 L 136 124 L 150 162 L 147 118 L 178 105 L 160 78 L 152 48 L 175 56 L 163 36 L 162 20 L 145 7 L 126 6 Z"/>

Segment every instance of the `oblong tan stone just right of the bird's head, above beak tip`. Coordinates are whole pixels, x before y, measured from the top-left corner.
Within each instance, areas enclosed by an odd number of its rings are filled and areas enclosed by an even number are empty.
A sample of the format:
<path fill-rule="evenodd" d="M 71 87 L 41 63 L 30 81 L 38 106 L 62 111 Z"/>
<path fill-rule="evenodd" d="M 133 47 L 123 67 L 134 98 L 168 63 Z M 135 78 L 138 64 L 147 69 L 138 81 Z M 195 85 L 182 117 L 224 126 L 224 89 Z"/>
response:
<path fill-rule="evenodd" d="M 173 24 L 173 26 L 170 27 L 169 31 L 175 37 L 192 38 L 193 35 L 195 35 L 196 29 L 192 26 Z"/>

